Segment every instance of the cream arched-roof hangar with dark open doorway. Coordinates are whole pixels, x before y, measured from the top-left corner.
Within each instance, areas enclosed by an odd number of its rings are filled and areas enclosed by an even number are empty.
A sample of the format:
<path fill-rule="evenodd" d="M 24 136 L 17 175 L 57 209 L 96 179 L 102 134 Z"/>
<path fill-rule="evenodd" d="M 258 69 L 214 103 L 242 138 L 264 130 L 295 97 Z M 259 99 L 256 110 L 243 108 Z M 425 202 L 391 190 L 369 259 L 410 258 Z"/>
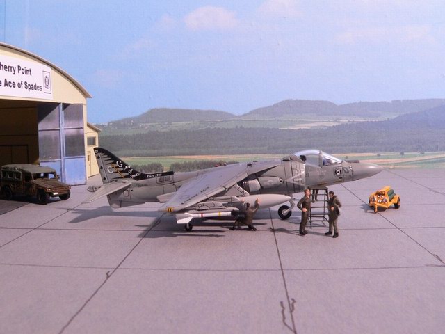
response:
<path fill-rule="evenodd" d="M 51 166 L 63 182 L 85 184 L 97 173 L 87 156 L 98 130 L 87 131 L 90 97 L 56 65 L 0 42 L 0 166 Z"/>

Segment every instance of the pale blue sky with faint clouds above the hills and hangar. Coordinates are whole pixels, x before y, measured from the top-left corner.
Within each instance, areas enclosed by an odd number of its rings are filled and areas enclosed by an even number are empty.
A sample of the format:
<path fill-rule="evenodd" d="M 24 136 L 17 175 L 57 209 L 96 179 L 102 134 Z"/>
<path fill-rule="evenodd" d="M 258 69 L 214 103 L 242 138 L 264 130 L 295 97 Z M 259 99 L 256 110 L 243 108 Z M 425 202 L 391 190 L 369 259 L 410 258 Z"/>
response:
<path fill-rule="evenodd" d="M 0 0 L 0 12 L 4 42 L 92 95 L 92 123 L 445 97 L 443 0 Z"/>

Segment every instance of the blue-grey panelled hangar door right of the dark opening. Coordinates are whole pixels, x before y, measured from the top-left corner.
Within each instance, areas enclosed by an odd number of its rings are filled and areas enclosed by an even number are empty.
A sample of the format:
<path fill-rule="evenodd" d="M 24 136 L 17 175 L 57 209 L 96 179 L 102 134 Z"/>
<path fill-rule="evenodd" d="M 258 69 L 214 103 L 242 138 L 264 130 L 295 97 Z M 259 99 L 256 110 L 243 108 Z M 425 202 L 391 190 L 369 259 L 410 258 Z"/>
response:
<path fill-rule="evenodd" d="M 38 106 L 40 164 L 57 170 L 67 184 L 86 183 L 82 104 Z"/>

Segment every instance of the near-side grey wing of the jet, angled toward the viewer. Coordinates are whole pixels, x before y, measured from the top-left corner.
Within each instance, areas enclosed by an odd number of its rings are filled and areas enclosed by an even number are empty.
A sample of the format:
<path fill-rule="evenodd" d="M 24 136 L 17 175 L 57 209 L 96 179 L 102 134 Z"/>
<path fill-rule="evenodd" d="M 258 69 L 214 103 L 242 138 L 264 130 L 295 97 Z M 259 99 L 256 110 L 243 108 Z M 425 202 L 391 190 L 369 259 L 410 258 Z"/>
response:
<path fill-rule="evenodd" d="M 221 193 L 253 173 L 260 173 L 278 166 L 266 164 L 234 164 L 203 170 L 194 179 L 186 182 L 165 204 L 161 212 L 180 212 L 211 196 Z"/>

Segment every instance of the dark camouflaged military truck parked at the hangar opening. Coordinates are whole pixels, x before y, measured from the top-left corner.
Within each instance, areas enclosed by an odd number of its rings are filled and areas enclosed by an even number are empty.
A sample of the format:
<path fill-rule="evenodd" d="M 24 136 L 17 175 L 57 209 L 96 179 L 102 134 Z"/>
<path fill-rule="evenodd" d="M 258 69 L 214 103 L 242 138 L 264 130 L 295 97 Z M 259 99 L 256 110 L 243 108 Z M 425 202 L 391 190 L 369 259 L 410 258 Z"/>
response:
<path fill-rule="evenodd" d="M 12 164 L 0 168 L 0 189 L 3 198 L 12 200 L 15 195 L 37 196 L 46 205 L 49 198 L 70 198 L 71 186 L 60 182 L 51 167 L 33 164 Z"/>

